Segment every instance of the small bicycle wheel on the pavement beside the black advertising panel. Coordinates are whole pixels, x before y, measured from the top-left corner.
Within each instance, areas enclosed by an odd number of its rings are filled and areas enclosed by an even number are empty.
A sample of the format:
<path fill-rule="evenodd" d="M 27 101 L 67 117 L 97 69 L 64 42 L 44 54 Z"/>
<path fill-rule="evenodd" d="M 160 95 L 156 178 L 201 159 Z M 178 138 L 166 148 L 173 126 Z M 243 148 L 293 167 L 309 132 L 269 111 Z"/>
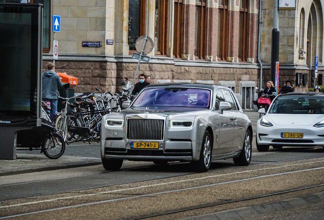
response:
<path fill-rule="evenodd" d="M 65 142 L 61 135 L 52 133 L 42 143 L 42 149 L 45 156 L 50 159 L 61 157 L 65 151 Z"/>

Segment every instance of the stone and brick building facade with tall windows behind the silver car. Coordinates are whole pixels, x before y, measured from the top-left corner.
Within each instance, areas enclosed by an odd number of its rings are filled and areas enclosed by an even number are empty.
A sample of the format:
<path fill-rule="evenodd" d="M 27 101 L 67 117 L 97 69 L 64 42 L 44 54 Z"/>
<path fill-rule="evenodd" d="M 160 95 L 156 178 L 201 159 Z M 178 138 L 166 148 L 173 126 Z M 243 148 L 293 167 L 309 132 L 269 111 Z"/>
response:
<path fill-rule="evenodd" d="M 56 71 L 78 78 L 75 92 L 119 92 L 124 77 L 132 80 L 136 71 L 130 44 L 147 35 L 154 48 L 138 74 L 150 75 L 154 84 L 223 84 L 238 95 L 246 85 L 254 96 L 259 0 L 42 1 L 50 4 L 50 17 L 61 16 Z M 52 32 L 49 38 L 52 42 Z M 101 46 L 83 47 L 83 42 Z M 43 53 L 44 69 L 47 62 L 52 62 L 52 43 Z"/>

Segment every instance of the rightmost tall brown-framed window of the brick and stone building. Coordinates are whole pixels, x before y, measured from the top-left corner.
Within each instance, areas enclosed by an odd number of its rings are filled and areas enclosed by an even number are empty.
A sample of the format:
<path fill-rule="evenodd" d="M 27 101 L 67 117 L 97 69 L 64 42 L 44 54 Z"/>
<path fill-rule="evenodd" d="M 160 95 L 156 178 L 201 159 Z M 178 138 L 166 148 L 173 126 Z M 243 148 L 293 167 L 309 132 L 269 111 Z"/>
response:
<path fill-rule="evenodd" d="M 248 59 L 248 23 L 249 23 L 249 1 L 239 2 L 239 34 L 238 34 L 238 58 L 241 61 Z"/>

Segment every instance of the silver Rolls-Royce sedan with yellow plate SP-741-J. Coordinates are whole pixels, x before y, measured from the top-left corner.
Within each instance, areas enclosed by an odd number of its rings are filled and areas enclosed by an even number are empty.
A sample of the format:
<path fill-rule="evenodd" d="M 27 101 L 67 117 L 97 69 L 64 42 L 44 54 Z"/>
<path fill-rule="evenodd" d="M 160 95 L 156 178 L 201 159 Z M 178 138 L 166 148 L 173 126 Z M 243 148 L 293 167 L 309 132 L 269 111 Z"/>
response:
<path fill-rule="evenodd" d="M 206 172 L 212 160 L 233 158 L 250 164 L 252 124 L 227 87 L 157 84 L 145 87 L 121 113 L 101 122 L 104 169 L 119 170 L 123 160 L 190 161 Z"/>

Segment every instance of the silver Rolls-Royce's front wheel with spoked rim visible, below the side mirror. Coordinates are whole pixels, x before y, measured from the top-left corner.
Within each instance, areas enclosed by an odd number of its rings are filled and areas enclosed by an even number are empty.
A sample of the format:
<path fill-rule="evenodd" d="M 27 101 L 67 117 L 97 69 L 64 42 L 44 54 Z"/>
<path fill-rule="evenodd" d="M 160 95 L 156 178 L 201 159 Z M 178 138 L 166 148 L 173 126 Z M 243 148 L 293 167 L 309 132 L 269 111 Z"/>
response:
<path fill-rule="evenodd" d="M 211 165 L 212 143 L 209 131 L 205 131 L 198 161 L 192 161 L 192 168 L 200 173 L 207 172 Z"/>

